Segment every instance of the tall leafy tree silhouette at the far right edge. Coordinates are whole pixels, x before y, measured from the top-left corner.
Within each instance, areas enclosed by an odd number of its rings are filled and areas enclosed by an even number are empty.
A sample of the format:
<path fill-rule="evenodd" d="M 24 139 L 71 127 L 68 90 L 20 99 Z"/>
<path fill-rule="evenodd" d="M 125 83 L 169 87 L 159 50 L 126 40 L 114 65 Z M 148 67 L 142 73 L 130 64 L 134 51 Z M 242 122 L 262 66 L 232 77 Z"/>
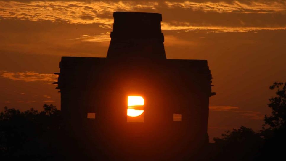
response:
<path fill-rule="evenodd" d="M 265 124 L 270 127 L 265 128 L 263 125 L 263 130 L 261 130 L 265 144 L 261 149 L 259 159 L 281 160 L 285 158 L 286 145 L 286 82 L 274 82 L 269 89 L 277 91 L 276 97 L 269 99 L 268 107 L 272 109 L 272 115 L 264 117 Z"/>

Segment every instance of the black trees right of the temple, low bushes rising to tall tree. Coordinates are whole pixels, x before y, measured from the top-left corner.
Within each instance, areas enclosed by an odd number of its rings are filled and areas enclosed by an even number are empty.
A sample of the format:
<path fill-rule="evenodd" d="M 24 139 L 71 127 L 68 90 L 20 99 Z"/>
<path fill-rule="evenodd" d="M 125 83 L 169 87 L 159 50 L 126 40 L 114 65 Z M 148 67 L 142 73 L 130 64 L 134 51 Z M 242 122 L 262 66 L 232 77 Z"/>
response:
<path fill-rule="evenodd" d="M 285 160 L 286 82 L 269 88 L 276 90 L 276 96 L 269 99 L 272 114 L 265 115 L 261 130 L 242 126 L 214 138 L 212 160 Z"/>

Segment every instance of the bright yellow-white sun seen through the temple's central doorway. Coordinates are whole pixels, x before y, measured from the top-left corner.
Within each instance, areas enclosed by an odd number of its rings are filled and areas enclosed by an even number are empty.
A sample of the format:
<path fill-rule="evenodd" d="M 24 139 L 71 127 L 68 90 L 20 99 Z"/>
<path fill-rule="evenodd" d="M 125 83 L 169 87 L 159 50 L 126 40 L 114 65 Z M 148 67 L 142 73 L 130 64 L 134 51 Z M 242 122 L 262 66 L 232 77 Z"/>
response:
<path fill-rule="evenodd" d="M 128 96 L 127 104 L 128 104 L 127 116 L 137 117 L 144 112 L 144 110 L 140 110 L 144 105 L 144 99 L 141 96 Z"/>

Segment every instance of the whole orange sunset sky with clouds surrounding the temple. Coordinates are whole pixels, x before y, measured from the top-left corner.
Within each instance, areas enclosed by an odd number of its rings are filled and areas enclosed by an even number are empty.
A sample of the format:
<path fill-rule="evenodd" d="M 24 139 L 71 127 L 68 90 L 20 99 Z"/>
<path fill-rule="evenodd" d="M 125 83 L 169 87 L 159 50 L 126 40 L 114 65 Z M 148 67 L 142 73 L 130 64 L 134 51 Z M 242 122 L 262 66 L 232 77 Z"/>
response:
<path fill-rule="evenodd" d="M 167 58 L 208 60 L 210 141 L 261 128 L 275 94 L 268 87 L 286 81 L 285 0 L 0 0 L 1 111 L 60 108 L 52 82 L 61 57 L 106 57 L 114 11 L 161 13 Z"/>

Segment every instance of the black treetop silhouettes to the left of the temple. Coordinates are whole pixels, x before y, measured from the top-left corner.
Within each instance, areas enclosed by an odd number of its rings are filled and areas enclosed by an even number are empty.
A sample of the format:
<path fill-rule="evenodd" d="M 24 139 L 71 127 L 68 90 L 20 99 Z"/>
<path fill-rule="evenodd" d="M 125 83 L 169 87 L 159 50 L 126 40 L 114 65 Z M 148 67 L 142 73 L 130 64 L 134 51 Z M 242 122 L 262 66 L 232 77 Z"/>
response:
<path fill-rule="evenodd" d="M 56 153 L 60 131 L 60 110 L 44 104 L 44 111 L 21 112 L 4 107 L 0 113 L 0 155 L 5 159 L 48 159 Z"/>

